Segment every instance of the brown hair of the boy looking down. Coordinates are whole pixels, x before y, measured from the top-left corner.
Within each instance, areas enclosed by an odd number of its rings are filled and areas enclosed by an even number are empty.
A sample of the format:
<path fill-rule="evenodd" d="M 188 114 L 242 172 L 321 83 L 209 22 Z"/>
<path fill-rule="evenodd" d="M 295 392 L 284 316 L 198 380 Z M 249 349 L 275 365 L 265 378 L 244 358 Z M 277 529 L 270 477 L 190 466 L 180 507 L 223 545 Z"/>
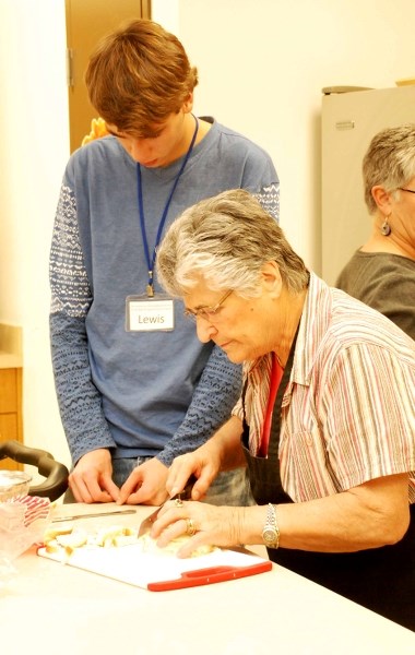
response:
<path fill-rule="evenodd" d="M 120 132 L 151 136 L 180 110 L 198 84 L 179 39 L 157 23 L 134 20 L 105 37 L 85 73 L 90 100 Z"/>

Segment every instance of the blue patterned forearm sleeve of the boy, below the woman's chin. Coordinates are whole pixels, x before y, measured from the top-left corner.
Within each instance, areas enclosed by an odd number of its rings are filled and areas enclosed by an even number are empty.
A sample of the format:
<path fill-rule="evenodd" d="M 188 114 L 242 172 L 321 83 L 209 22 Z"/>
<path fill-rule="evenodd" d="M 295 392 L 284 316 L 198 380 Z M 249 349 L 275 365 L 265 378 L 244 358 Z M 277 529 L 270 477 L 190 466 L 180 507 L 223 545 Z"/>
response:
<path fill-rule="evenodd" d="M 157 458 L 166 466 L 195 450 L 230 417 L 241 390 L 241 367 L 215 346 L 203 369 L 192 402 L 179 429 Z"/>

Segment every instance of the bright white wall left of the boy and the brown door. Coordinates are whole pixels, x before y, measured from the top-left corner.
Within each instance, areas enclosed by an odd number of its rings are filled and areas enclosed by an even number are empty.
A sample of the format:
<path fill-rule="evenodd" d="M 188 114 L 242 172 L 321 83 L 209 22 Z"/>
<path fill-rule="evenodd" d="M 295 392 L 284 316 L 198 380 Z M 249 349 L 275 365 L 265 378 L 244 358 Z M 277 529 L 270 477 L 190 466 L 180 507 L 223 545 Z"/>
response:
<path fill-rule="evenodd" d="M 23 326 L 24 439 L 69 463 L 51 376 L 48 254 L 69 155 L 64 0 L 0 0 L 0 322 Z"/>

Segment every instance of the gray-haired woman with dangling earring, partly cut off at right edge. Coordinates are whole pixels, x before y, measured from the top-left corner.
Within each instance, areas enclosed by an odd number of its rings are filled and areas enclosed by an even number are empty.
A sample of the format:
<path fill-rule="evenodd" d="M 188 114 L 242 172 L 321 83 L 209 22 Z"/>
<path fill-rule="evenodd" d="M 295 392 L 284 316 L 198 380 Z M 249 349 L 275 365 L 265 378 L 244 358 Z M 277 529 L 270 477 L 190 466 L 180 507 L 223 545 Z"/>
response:
<path fill-rule="evenodd" d="M 381 311 L 415 340 L 415 123 L 374 136 L 363 177 L 374 227 L 335 286 Z"/>

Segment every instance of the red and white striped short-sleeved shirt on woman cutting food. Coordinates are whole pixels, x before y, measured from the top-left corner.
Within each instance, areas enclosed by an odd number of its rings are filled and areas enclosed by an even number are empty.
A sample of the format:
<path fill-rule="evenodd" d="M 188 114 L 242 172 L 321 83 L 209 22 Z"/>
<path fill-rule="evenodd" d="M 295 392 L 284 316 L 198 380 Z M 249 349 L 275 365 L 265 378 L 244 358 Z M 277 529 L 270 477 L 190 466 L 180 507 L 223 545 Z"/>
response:
<path fill-rule="evenodd" d="M 246 362 L 250 450 L 258 453 L 271 355 Z M 242 418 L 241 401 L 233 410 Z M 311 274 L 282 405 L 281 479 L 295 502 L 408 473 L 415 502 L 415 342 Z"/>

